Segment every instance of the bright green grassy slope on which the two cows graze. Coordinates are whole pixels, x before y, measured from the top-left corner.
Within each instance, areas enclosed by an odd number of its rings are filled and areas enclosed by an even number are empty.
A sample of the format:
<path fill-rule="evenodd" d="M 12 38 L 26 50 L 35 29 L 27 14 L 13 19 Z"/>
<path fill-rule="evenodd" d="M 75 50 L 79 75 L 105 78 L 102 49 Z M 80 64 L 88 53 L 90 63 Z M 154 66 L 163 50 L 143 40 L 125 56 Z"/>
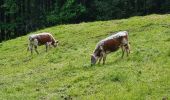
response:
<path fill-rule="evenodd" d="M 96 43 L 111 32 L 128 30 L 132 52 L 108 55 L 106 65 L 90 67 Z M 59 48 L 40 55 L 26 51 L 27 36 L 0 44 L 0 99 L 170 98 L 170 15 L 61 25 L 51 32 Z"/>

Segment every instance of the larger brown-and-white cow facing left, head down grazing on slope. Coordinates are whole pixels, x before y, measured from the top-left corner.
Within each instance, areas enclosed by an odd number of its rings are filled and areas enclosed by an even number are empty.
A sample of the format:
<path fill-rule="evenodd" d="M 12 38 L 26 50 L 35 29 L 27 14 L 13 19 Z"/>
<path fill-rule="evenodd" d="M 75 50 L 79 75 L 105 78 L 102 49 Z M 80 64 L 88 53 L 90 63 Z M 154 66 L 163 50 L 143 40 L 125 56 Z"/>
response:
<path fill-rule="evenodd" d="M 103 40 L 101 40 L 93 54 L 91 55 L 91 65 L 96 64 L 99 59 L 100 61 L 103 59 L 103 64 L 105 64 L 106 55 L 117 51 L 119 48 L 122 49 L 122 58 L 124 56 L 124 52 L 126 51 L 127 56 L 130 53 L 130 45 L 128 43 L 128 32 L 120 31 L 114 35 L 111 35 Z"/>

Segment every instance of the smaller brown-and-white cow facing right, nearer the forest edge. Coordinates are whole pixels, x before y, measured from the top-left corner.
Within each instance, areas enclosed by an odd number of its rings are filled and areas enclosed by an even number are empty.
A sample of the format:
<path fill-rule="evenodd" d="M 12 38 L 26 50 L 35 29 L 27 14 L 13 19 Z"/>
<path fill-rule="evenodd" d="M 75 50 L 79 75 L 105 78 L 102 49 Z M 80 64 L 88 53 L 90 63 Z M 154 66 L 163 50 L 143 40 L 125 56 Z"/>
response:
<path fill-rule="evenodd" d="M 51 45 L 56 47 L 58 45 L 58 41 L 56 41 L 50 33 L 32 34 L 29 36 L 28 50 L 31 51 L 31 54 L 33 53 L 33 48 L 35 49 L 36 53 L 39 54 L 37 47 L 40 45 L 45 45 L 47 52 Z"/>

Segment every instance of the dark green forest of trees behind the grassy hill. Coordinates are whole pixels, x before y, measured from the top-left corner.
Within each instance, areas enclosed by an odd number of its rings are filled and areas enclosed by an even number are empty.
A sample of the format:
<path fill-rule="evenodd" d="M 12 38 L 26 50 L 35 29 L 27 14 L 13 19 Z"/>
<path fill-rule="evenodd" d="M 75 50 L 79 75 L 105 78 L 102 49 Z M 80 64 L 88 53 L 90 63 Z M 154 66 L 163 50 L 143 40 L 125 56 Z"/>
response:
<path fill-rule="evenodd" d="M 170 0 L 0 0 L 0 42 L 45 27 L 170 13 Z"/>

